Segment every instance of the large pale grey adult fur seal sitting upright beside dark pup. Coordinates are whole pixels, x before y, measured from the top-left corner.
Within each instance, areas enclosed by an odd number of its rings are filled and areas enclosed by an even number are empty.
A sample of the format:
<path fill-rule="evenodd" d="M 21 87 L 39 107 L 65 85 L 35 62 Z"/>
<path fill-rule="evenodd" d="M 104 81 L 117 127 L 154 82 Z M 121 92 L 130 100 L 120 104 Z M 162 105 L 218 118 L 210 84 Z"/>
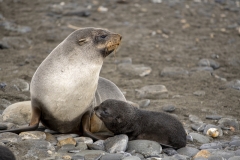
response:
<path fill-rule="evenodd" d="M 6 131 L 35 130 L 40 121 L 60 133 L 82 135 L 82 132 L 87 132 L 88 135 L 104 128 L 99 119 L 95 120 L 95 128 L 90 126 L 90 118 L 96 117 L 90 117 L 91 112 L 88 111 L 109 98 L 126 101 L 114 83 L 99 77 L 104 58 L 116 50 L 120 41 L 119 34 L 99 28 L 79 29 L 70 34 L 33 75 L 30 125 Z M 86 116 L 82 120 L 84 113 Z M 87 126 L 81 124 L 82 121 Z"/>

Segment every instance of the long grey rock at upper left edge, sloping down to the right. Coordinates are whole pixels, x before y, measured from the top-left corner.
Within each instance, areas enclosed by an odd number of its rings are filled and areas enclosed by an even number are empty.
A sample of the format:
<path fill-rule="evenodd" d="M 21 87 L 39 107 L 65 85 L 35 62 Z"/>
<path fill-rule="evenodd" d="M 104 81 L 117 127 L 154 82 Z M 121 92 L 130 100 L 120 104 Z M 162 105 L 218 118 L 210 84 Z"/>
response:
<path fill-rule="evenodd" d="M 21 26 L 8 21 L 1 22 L 0 26 L 2 26 L 6 30 L 15 31 L 19 33 L 27 33 L 32 31 L 32 29 L 28 26 Z"/>

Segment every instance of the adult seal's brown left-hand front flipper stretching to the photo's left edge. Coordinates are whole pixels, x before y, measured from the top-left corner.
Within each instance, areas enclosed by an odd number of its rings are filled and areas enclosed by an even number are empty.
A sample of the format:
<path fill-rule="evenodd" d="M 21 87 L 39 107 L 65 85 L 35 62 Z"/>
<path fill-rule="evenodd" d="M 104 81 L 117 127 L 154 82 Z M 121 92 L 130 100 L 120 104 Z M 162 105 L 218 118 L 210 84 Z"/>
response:
<path fill-rule="evenodd" d="M 32 107 L 32 119 L 28 127 L 17 128 L 17 129 L 9 129 L 9 130 L 2 130 L 0 133 L 4 132 L 13 132 L 13 133 L 21 133 L 24 131 L 34 131 L 38 128 L 39 122 L 41 117 L 41 111 L 38 108 Z"/>

